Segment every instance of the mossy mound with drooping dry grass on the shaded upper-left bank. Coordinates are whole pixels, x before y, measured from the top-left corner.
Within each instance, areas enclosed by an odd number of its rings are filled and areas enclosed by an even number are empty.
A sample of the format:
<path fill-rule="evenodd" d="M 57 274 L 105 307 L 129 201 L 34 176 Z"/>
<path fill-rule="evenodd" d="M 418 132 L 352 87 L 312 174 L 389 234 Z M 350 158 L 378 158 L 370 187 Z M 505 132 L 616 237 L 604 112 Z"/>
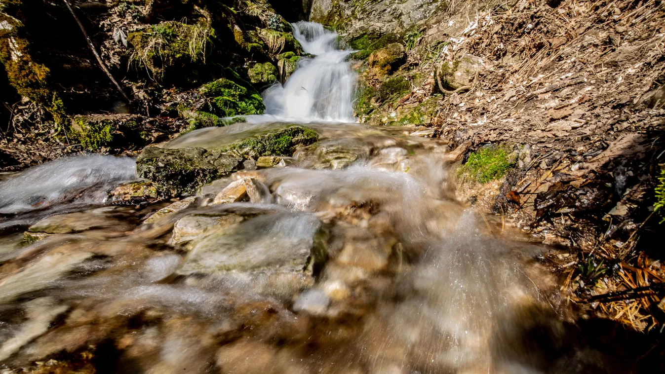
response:
<path fill-rule="evenodd" d="M 157 80 L 172 68 L 203 64 L 215 31 L 205 25 L 163 21 L 129 33 L 134 62 L 145 66 Z"/>

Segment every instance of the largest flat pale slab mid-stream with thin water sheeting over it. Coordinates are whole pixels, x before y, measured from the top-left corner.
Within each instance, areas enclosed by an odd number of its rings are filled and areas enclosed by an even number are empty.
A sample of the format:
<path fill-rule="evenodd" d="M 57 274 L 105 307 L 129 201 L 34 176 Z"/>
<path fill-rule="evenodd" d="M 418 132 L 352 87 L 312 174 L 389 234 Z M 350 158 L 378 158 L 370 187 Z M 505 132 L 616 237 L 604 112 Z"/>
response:
<path fill-rule="evenodd" d="M 327 234 L 308 213 L 247 207 L 229 213 L 248 217 L 215 227 L 188 244 L 190 254 L 178 274 L 247 274 L 268 278 L 281 294 L 291 294 L 313 281 L 313 266 L 326 256 Z"/>

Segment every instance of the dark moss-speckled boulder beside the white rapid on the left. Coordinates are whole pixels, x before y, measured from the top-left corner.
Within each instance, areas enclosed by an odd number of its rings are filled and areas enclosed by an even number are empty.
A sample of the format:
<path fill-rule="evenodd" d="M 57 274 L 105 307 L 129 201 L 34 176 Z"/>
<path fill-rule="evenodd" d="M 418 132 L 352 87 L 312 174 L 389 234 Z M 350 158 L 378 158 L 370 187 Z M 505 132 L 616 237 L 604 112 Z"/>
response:
<path fill-rule="evenodd" d="M 242 161 L 237 155 L 199 147 L 146 147 L 136 160 L 136 171 L 166 196 L 194 195 L 202 185 L 239 169 Z"/>

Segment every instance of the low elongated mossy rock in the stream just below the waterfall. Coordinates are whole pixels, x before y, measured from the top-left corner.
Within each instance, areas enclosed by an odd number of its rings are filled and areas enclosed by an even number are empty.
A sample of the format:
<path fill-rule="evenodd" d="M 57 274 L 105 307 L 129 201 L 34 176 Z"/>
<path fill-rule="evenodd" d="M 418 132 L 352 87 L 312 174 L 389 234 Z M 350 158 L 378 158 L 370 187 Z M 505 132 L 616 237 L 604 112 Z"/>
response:
<path fill-rule="evenodd" d="M 303 126 L 293 126 L 269 134 L 253 136 L 237 141 L 227 150 L 233 150 L 248 157 L 291 156 L 301 145 L 310 145 L 319 140 L 319 134 Z"/>

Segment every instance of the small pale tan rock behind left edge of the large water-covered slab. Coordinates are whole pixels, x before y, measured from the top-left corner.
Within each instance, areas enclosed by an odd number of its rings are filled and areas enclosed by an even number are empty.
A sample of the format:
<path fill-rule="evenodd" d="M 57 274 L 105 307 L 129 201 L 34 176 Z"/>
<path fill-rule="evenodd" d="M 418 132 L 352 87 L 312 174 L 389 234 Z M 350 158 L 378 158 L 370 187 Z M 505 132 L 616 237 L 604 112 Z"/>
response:
<path fill-rule="evenodd" d="M 243 221 L 240 215 L 222 213 L 222 215 L 186 215 L 173 227 L 169 244 L 185 244 L 196 238 L 203 238 L 211 229 L 226 227 Z"/>

